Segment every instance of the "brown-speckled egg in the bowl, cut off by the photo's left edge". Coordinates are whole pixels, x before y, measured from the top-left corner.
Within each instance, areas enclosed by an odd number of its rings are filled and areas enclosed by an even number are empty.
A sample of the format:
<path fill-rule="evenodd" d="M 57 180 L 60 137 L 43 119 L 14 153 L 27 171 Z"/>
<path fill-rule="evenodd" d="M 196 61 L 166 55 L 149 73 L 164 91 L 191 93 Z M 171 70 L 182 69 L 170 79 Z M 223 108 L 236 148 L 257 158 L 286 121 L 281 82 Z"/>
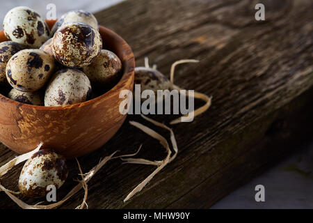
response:
<path fill-rule="evenodd" d="M 6 82 L 6 65 L 10 58 L 24 49 L 22 45 L 12 41 L 0 43 L 0 83 Z"/>

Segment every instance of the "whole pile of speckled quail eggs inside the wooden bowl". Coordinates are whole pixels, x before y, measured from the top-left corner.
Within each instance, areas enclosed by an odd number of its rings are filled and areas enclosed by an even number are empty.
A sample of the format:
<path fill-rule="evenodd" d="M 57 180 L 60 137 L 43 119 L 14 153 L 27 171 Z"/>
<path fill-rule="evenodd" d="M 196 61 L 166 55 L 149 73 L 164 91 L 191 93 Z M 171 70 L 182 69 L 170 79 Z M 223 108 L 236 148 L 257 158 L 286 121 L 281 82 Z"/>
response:
<path fill-rule="evenodd" d="M 111 89 L 122 63 L 113 52 L 102 49 L 98 30 L 95 16 L 84 10 L 66 13 L 51 31 L 31 8 L 10 10 L 3 20 L 8 41 L 0 43 L 0 85 L 10 84 L 8 98 L 63 106 Z"/>

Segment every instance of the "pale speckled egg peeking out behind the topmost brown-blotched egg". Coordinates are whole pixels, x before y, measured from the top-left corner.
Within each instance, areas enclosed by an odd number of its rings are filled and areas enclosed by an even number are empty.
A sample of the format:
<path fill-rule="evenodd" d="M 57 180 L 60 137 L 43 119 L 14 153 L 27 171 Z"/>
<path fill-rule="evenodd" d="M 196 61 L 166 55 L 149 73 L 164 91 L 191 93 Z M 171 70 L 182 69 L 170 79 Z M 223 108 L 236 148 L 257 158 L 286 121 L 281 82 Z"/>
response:
<path fill-rule="evenodd" d="M 88 13 L 85 10 L 72 10 L 61 16 L 60 20 L 58 20 L 52 27 L 51 33 L 55 33 L 56 30 L 63 26 L 63 24 L 70 22 L 83 22 L 93 26 L 95 29 L 99 29 L 98 21 L 93 14 Z"/>

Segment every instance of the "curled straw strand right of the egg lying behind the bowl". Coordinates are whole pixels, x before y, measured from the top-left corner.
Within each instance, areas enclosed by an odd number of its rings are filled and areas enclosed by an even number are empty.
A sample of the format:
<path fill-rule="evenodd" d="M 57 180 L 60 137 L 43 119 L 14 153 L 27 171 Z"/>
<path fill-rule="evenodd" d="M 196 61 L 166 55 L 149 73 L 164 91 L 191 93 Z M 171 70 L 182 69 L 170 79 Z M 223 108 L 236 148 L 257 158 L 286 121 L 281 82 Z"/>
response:
<path fill-rule="evenodd" d="M 177 65 L 182 64 L 182 63 L 199 63 L 198 60 L 188 60 L 188 59 L 184 59 L 184 60 L 180 60 L 180 61 L 176 61 L 175 63 L 172 64 L 171 68 L 170 68 L 170 83 L 172 84 L 172 89 L 178 90 L 180 93 L 182 93 L 182 91 L 180 90 L 184 90 L 181 89 L 179 86 L 176 86 L 174 84 L 174 75 L 175 75 L 175 68 Z M 188 96 L 188 93 L 186 93 L 185 95 Z M 211 100 L 212 98 L 205 95 L 204 93 L 199 93 L 196 92 L 193 95 L 194 98 L 198 98 L 200 100 L 203 100 L 205 102 L 205 105 L 203 105 L 202 107 L 195 109 L 195 111 L 191 112 L 191 114 L 193 114 L 193 118 L 195 118 L 196 116 L 202 114 L 203 112 L 207 111 L 207 109 L 209 109 L 209 107 L 211 106 Z M 184 115 L 183 117 L 188 117 L 190 116 L 190 114 Z M 170 122 L 170 125 L 174 125 L 177 123 L 181 123 L 182 122 L 182 117 L 176 118 L 175 120 Z"/>

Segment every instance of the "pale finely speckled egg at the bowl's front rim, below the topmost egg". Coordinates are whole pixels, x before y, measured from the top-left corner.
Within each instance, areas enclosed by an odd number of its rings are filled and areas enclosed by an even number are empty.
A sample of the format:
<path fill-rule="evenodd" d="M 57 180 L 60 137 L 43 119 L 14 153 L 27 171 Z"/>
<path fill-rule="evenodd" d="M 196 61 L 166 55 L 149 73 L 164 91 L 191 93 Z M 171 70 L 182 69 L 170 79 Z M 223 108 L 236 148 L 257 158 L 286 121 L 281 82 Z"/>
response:
<path fill-rule="evenodd" d="M 84 102 L 91 91 L 90 81 L 81 70 L 65 68 L 56 72 L 51 78 L 45 93 L 45 106 Z"/>

